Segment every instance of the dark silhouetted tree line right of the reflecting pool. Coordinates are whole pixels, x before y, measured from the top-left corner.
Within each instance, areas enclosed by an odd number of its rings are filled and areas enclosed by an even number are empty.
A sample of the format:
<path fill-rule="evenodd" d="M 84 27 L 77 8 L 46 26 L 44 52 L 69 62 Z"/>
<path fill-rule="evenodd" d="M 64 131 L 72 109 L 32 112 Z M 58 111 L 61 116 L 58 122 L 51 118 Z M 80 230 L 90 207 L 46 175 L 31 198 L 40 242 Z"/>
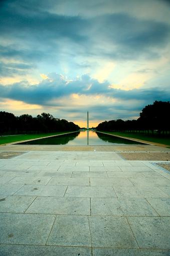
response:
<path fill-rule="evenodd" d="M 98 124 L 96 130 L 113 132 L 140 132 L 170 135 L 170 102 L 154 101 L 146 105 L 137 120 L 110 120 Z"/>

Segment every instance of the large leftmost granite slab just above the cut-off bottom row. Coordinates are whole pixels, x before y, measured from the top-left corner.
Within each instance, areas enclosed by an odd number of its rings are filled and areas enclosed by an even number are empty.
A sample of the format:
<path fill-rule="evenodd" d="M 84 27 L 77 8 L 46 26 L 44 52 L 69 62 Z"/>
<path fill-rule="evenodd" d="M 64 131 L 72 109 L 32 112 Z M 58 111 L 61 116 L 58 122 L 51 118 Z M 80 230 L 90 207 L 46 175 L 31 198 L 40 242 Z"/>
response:
<path fill-rule="evenodd" d="M 45 245 L 55 215 L 0 213 L 0 243 Z"/>

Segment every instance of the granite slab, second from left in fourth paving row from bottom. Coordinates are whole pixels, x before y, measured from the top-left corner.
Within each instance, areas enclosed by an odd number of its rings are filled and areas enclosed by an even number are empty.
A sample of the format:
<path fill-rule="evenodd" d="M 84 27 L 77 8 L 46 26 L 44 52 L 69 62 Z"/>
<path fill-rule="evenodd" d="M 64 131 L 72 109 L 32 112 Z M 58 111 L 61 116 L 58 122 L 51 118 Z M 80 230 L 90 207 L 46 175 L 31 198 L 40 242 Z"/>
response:
<path fill-rule="evenodd" d="M 9 184 L 13 185 L 13 184 Z M 64 196 L 67 186 L 24 185 L 15 195 L 21 196 Z"/>

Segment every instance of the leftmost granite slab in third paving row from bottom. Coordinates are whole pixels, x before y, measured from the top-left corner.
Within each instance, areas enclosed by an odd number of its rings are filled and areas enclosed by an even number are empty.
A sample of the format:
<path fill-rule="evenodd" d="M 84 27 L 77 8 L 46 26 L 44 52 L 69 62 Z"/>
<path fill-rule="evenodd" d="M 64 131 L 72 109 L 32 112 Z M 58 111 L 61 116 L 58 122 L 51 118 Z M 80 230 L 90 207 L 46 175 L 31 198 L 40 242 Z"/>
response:
<path fill-rule="evenodd" d="M 0 212 L 24 213 L 35 196 L 0 196 Z"/>

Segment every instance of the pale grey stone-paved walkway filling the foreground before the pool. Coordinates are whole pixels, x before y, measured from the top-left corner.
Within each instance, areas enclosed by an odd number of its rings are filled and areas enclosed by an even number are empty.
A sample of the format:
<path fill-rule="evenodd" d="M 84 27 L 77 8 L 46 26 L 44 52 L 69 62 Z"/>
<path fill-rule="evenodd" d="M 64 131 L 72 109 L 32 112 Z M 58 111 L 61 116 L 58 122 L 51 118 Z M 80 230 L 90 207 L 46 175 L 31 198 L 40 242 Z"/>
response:
<path fill-rule="evenodd" d="M 17 149 L 1 147 L 0 255 L 170 254 L 170 175 L 154 161 Z"/>

